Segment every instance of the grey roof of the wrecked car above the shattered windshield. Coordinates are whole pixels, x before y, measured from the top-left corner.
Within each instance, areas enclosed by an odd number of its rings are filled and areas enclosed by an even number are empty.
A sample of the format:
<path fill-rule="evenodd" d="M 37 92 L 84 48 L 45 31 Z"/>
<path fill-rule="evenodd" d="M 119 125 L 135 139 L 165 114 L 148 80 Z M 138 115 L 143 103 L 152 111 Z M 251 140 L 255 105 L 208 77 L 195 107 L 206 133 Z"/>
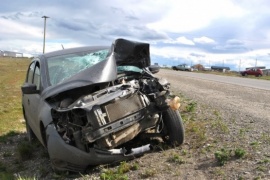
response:
<path fill-rule="evenodd" d="M 59 56 L 59 55 L 64 55 L 64 54 L 72 54 L 72 53 L 84 52 L 84 51 L 97 51 L 97 50 L 109 49 L 109 48 L 110 46 L 84 46 L 84 47 L 68 48 L 68 49 L 48 52 L 40 56 L 49 58 L 49 57 L 54 57 L 54 56 Z"/>

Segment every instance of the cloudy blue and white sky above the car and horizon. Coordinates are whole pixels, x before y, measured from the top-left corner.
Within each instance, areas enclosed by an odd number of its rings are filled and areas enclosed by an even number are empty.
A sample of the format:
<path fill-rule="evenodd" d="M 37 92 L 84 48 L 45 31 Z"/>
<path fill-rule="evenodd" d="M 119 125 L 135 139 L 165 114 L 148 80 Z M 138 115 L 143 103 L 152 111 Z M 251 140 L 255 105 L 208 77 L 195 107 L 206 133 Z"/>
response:
<path fill-rule="evenodd" d="M 0 5 L 0 50 L 36 56 L 117 38 L 150 44 L 161 66 L 270 69 L 269 0 L 12 0 Z"/>

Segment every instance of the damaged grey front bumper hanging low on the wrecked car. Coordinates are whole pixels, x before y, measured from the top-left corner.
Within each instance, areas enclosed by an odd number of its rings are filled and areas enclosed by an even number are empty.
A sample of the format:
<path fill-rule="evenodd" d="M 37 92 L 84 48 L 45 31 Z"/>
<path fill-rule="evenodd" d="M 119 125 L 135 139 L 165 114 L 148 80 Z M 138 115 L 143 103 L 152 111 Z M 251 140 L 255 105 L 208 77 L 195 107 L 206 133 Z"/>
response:
<path fill-rule="evenodd" d="M 53 124 L 47 126 L 46 134 L 47 148 L 52 166 L 55 170 L 59 171 L 83 172 L 89 166 L 127 161 L 151 150 L 151 146 L 147 144 L 142 147 L 133 148 L 130 151 L 124 148 L 105 150 L 93 147 L 90 148 L 89 152 L 84 152 L 66 144 L 57 133 Z"/>

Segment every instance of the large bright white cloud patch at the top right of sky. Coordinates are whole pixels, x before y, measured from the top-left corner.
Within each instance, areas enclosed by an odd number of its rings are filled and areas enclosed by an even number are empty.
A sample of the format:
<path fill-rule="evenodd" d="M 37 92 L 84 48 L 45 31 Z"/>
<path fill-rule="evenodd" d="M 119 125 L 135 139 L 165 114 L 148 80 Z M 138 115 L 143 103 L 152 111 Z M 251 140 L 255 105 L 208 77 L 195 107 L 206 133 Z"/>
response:
<path fill-rule="evenodd" d="M 194 31 L 208 26 L 221 17 L 241 17 L 246 12 L 228 0 L 167 0 L 172 4 L 164 9 L 164 16 L 148 24 L 149 28 L 181 33 Z"/>

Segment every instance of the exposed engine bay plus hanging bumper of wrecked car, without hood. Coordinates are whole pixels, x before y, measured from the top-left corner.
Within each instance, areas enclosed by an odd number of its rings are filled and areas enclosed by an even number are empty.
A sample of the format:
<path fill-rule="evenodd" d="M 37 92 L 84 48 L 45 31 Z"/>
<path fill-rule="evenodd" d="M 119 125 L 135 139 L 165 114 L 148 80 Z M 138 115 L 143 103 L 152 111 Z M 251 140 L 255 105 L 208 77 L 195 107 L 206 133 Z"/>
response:
<path fill-rule="evenodd" d="M 54 167 L 82 171 L 149 151 L 149 144 L 121 145 L 157 128 L 160 113 L 168 108 L 168 87 L 156 78 L 131 80 L 82 96 L 70 105 L 66 105 L 68 98 L 63 99 L 62 106 L 51 110 L 53 123 L 46 133 Z"/>

